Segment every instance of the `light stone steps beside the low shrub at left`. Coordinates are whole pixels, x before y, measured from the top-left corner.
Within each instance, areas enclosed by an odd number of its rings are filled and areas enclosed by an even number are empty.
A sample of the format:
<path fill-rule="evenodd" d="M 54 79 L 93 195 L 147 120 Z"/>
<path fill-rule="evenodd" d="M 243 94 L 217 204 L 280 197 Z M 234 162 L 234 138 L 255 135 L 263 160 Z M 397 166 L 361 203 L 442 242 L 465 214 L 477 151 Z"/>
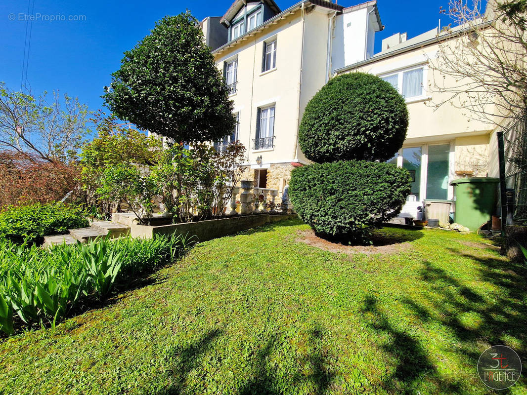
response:
<path fill-rule="evenodd" d="M 113 218 L 112 218 L 113 220 Z M 70 229 L 70 234 L 45 236 L 44 248 L 57 244 L 87 243 L 101 237 L 116 239 L 130 233 L 130 226 L 118 221 L 93 221 L 89 228 Z"/>

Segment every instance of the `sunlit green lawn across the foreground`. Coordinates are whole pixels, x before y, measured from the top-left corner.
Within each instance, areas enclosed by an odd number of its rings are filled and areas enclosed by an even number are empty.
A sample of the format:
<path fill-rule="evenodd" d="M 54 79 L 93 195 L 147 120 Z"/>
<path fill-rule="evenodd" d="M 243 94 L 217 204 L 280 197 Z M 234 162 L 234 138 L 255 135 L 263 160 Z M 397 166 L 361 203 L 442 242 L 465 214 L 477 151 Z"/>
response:
<path fill-rule="evenodd" d="M 527 271 L 479 236 L 385 229 L 409 248 L 345 255 L 307 229 L 199 244 L 105 308 L 0 340 L 0 393 L 483 394 L 487 347 L 527 361 Z"/>

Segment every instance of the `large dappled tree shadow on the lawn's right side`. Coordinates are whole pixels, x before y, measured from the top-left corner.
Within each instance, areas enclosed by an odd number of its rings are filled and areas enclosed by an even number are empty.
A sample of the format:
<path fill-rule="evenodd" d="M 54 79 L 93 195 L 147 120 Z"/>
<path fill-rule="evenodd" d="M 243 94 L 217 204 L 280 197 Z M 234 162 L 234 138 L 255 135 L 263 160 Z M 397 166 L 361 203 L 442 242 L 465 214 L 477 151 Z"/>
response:
<path fill-rule="evenodd" d="M 480 262 L 480 281 L 498 287 L 500 292 L 482 295 L 461 283 L 444 269 L 424 261 L 421 278 L 428 284 L 427 288 L 434 293 L 434 298 L 430 299 L 433 311 L 409 298 L 405 298 L 403 304 L 423 322 L 435 321 L 448 333 L 452 333 L 457 339 L 457 345 L 451 351 L 469 357 L 474 371 L 481 352 L 491 345 L 509 345 L 519 354 L 522 361 L 527 361 L 525 267 L 521 264 L 467 254 L 456 249 L 448 250 L 453 254 Z M 526 384 L 527 380 L 521 378 L 515 386 L 527 387 Z M 510 390 L 500 393 L 510 393 Z"/>

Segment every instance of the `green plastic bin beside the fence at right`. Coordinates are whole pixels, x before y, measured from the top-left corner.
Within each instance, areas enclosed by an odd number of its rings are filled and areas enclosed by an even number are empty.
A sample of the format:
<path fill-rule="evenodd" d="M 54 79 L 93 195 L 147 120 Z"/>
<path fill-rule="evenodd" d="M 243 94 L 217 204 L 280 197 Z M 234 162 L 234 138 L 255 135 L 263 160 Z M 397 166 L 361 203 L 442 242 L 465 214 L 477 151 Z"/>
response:
<path fill-rule="evenodd" d="M 454 185 L 454 222 L 476 232 L 492 218 L 496 207 L 500 179 L 468 177 L 450 183 Z"/>

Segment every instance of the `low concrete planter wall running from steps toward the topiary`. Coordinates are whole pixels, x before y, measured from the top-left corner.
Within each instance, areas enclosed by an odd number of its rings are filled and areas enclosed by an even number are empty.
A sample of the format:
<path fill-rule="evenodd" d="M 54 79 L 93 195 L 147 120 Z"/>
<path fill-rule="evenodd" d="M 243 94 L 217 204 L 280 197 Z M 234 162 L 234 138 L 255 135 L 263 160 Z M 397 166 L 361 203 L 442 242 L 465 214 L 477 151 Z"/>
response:
<path fill-rule="evenodd" d="M 243 230 L 256 228 L 268 223 L 297 218 L 297 214 L 253 214 L 240 215 L 217 220 L 186 222 L 162 226 L 136 225 L 130 226 L 132 238 L 152 239 L 154 235 L 189 234 L 196 236 L 198 241 L 217 239 Z"/>

